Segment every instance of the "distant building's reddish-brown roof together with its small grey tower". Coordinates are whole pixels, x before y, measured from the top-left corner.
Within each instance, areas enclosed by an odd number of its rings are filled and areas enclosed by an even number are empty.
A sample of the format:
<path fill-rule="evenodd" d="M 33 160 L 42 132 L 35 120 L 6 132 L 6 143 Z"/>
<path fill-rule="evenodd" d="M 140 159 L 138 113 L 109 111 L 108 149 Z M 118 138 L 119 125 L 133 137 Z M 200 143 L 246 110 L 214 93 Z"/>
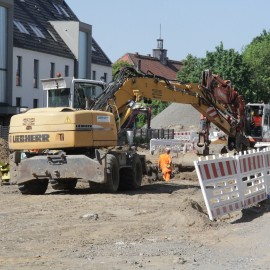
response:
<path fill-rule="evenodd" d="M 167 57 L 167 50 L 163 49 L 163 39 L 157 39 L 157 48 L 153 49 L 151 55 L 141 55 L 139 53 L 126 53 L 117 60 L 131 64 L 138 71 L 143 73 L 153 73 L 165 77 L 169 80 L 176 80 L 176 74 L 182 67 L 182 62 L 170 60 Z"/>

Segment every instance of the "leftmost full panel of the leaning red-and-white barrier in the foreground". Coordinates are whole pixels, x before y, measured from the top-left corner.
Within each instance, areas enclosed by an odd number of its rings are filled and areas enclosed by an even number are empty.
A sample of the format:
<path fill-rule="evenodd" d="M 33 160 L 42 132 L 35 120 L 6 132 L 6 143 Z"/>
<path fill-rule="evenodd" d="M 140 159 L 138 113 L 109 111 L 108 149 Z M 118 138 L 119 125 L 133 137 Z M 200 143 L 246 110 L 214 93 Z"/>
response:
<path fill-rule="evenodd" d="M 233 157 L 213 156 L 211 160 L 207 158 L 194 164 L 211 220 L 243 207 Z"/>

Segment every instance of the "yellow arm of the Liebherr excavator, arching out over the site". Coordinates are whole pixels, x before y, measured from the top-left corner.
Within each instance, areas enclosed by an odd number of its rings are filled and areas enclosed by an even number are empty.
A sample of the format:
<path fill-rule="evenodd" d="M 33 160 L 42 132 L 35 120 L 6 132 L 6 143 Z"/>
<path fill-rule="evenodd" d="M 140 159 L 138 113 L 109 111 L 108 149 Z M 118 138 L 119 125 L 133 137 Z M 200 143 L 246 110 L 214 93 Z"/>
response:
<path fill-rule="evenodd" d="M 243 130 L 242 97 L 228 81 L 212 75 L 210 71 L 203 72 L 200 84 L 181 84 L 153 74 L 142 74 L 133 68 L 124 68 L 93 109 L 111 111 L 119 119 L 121 128 L 130 117 L 134 105 L 149 100 L 190 104 L 230 138 L 237 137 L 237 133 Z"/>

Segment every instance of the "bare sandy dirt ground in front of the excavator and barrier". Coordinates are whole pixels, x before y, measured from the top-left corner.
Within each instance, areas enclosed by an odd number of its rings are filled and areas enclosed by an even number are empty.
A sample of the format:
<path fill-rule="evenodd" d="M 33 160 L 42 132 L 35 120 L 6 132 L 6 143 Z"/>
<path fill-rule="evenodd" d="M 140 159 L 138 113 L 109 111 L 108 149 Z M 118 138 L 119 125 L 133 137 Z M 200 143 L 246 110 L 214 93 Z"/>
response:
<path fill-rule="evenodd" d="M 0 269 L 270 269 L 268 205 L 217 221 L 196 172 L 136 191 L 0 186 Z"/>

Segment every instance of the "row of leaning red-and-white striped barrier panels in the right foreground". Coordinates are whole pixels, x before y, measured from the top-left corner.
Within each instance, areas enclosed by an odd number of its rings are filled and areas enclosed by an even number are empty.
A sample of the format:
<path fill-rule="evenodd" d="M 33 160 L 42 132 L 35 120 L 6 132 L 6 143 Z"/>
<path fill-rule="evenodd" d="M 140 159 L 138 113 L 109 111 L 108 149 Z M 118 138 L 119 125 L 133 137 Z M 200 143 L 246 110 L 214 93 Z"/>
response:
<path fill-rule="evenodd" d="M 209 218 L 255 205 L 270 194 L 270 151 L 194 162 Z"/>

